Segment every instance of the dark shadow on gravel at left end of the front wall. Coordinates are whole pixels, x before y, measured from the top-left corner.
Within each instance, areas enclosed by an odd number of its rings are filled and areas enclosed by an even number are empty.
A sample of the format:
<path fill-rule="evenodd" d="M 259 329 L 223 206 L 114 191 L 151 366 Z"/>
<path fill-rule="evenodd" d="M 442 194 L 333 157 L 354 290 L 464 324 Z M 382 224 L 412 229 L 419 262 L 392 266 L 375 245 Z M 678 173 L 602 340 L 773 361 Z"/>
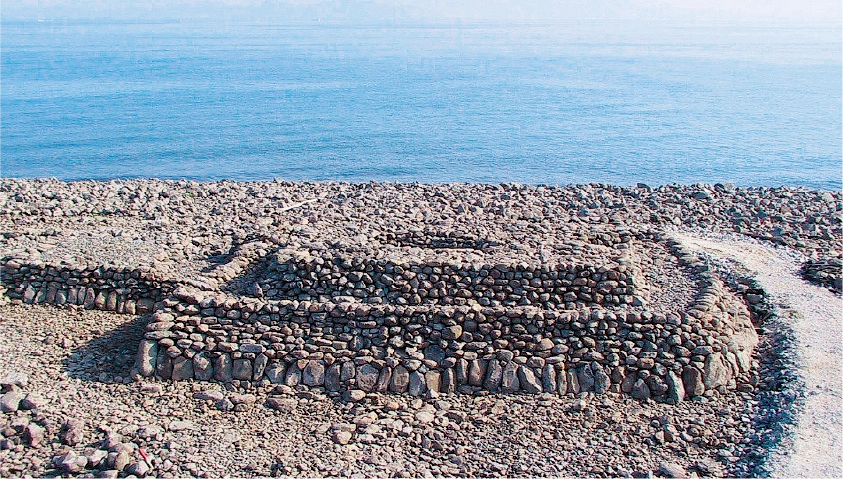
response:
<path fill-rule="evenodd" d="M 115 329 L 96 334 L 63 361 L 68 375 L 107 384 L 130 380 L 138 345 L 151 315 L 135 316 Z"/>

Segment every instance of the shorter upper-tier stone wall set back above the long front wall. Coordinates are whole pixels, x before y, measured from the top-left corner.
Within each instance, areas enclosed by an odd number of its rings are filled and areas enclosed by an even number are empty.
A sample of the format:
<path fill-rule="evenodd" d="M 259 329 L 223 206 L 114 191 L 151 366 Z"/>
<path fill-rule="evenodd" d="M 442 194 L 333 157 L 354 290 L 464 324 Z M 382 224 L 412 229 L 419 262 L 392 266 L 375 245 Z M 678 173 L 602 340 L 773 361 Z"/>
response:
<path fill-rule="evenodd" d="M 627 264 L 420 264 L 359 257 L 272 255 L 258 283 L 269 299 L 346 297 L 398 305 L 539 306 L 636 304 Z"/>

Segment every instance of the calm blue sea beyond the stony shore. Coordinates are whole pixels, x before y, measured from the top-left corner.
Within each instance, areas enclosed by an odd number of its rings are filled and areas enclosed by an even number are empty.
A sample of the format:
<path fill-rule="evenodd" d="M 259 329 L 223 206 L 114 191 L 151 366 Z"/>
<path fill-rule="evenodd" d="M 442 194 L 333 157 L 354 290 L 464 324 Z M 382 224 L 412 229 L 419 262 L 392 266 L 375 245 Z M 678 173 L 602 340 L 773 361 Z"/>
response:
<path fill-rule="evenodd" d="M 843 189 L 843 28 L 2 22 L 0 177 Z"/>

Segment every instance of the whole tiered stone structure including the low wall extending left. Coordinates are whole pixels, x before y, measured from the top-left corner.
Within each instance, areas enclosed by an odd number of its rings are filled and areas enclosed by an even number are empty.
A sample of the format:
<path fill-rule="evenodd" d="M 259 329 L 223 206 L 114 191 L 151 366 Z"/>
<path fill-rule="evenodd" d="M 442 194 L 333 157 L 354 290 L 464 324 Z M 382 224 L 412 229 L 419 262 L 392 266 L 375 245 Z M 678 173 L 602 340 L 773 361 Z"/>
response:
<path fill-rule="evenodd" d="M 174 381 L 668 403 L 751 381 L 744 301 L 657 232 L 572 225 L 539 249 L 442 229 L 283 236 L 178 274 L 7 256 L 0 283 L 148 315 L 137 373 Z"/>

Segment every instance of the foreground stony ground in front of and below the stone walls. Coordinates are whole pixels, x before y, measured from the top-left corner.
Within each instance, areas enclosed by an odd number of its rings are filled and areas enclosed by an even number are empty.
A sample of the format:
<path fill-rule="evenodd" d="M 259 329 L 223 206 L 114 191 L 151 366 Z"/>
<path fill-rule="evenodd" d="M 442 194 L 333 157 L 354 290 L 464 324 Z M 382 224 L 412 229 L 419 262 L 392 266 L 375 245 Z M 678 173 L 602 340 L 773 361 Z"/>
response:
<path fill-rule="evenodd" d="M 0 309 L 2 371 L 22 379 L 22 400 L 0 415 L 0 477 L 117 477 L 121 466 L 159 478 L 731 477 L 753 447 L 751 393 L 678 406 L 611 394 L 341 401 L 134 382 L 137 323 Z"/>

